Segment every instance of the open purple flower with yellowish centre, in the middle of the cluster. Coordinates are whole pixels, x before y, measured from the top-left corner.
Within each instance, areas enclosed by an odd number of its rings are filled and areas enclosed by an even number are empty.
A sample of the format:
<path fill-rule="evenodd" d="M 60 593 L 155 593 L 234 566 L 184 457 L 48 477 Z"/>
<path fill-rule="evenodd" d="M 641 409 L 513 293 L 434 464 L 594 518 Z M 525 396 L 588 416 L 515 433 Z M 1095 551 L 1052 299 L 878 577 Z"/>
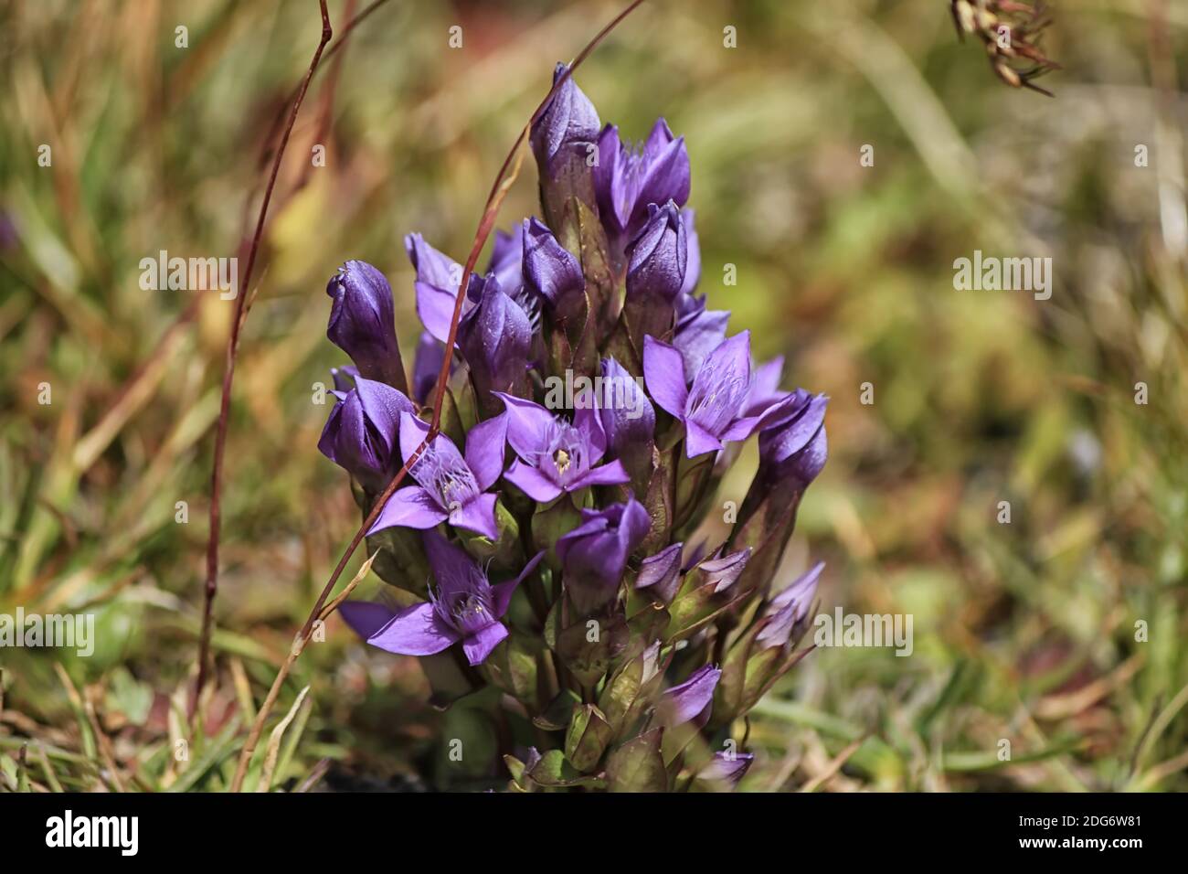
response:
<path fill-rule="evenodd" d="M 599 465 L 606 434 L 593 398 L 574 410 L 569 422 L 531 401 L 498 391 L 495 396 L 507 410 L 507 442 L 518 457 L 504 478 L 533 501 L 548 503 L 562 492 L 631 479 L 618 459 Z"/>

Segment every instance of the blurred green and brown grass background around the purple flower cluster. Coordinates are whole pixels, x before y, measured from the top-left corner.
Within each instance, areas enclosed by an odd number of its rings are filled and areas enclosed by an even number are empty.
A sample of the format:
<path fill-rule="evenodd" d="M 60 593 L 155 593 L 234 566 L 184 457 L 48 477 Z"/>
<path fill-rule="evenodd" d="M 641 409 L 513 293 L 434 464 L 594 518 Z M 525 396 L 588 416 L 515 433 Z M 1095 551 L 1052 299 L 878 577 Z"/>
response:
<path fill-rule="evenodd" d="M 336 31 L 347 6 L 330 4 Z M 0 788 L 227 784 L 358 524 L 316 451 L 329 408 L 315 383 L 345 360 L 324 338 L 326 281 L 348 258 L 384 270 L 411 361 L 403 235 L 465 256 L 552 64 L 617 11 L 391 2 L 315 80 L 239 359 L 219 673 L 198 730 L 187 696 L 233 304 L 144 291 L 139 262 L 236 254 L 316 2 L 4 6 L 0 612 L 97 627 L 88 659 L 0 649 Z M 744 788 L 1188 788 L 1188 14 L 1093 0 L 1054 18 L 1055 100 L 1003 86 L 925 0 L 647 2 L 577 76 L 625 137 L 658 114 L 685 136 L 701 290 L 763 357 L 788 356 L 786 386 L 833 398 L 786 573 L 824 559 L 823 610 L 914 615 L 911 658 L 801 662 L 739 727 L 758 755 Z M 529 162 L 500 226 L 535 212 Z M 975 249 L 1050 256 L 1051 300 L 955 291 L 953 260 Z M 752 445 L 723 501 L 741 501 L 754 464 Z M 415 660 L 366 650 L 337 618 L 274 721 L 305 685 L 273 785 L 329 767 L 331 786 L 457 786 L 436 738 L 492 743 L 465 705 L 424 703 Z"/>

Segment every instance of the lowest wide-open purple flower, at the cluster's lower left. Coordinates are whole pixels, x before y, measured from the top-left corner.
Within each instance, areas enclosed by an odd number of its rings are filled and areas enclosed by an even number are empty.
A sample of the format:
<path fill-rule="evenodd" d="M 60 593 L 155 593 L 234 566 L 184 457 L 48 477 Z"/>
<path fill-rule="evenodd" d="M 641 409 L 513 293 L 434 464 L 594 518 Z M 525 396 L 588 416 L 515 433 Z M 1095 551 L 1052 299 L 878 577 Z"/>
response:
<path fill-rule="evenodd" d="M 467 661 L 480 665 L 507 637 L 507 628 L 500 620 L 516 587 L 544 553 L 537 553 L 514 579 L 491 585 L 482 568 L 446 537 L 429 532 L 424 543 L 437 583 L 428 603 L 402 610 L 379 625 L 383 605 L 347 602 L 341 608 L 343 618 L 368 643 L 388 653 L 432 655 L 461 643 Z"/>

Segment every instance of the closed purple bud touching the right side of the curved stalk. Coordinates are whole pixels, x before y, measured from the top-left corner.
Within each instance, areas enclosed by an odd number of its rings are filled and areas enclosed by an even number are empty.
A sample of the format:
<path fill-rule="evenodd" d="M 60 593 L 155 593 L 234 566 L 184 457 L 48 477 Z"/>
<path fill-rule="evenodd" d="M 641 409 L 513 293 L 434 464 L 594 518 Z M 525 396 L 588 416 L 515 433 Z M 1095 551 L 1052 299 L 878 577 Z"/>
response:
<path fill-rule="evenodd" d="M 524 391 L 532 323 L 504 294 L 494 273 L 473 277 L 467 296 L 475 303 L 457 326 L 457 345 L 480 396 Z"/>

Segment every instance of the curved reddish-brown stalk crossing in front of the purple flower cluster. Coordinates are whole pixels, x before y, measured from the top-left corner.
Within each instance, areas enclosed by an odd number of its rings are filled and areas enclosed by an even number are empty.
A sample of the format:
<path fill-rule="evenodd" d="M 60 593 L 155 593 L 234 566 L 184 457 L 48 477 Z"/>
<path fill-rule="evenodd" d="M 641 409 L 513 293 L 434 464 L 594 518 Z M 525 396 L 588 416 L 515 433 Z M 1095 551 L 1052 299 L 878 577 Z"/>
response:
<path fill-rule="evenodd" d="M 462 302 L 466 297 L 466 282 L 474 270 L 475 264 L 479 262 L 479 253 L 482 251 L 484 245 L 487 243 L 487 237 L 491 235 L 491 231 L 495 225 L 495 219 L 499 215 L 499 207 L 503 206 L 504 199 L 507 196 L 507 191 L 511 189 L 512 183 L 516 182 L 516 177 L 519 175 L 520 165 L 524 162 L 524 153 L 520 146 L 527 139 L 529 132 L 532 125 L 544 114 L 544 111 L 549 106 L 549 101 L 552 95 L 557 92 L 561 86 L 573 75 L 574 70 L 586 59 L 586 57 L 598 48 L 599 43 L 602 42 L 606 36 L 613 31 L 623 19 L 625 19 L 631 12 L 636 10 L 644 0 L 633 0 L 633 2 L 627 6 L 623 12 L 615 15 L 609 24 L 607 24 L 601 31 L 598 32 L 584 49 L 579 52 L 574 62 L 569 64 L 569 69 L 552 83 L 552 88 L 545 95 L 544 100 L 532 113 L 532 118 L 529 122 L 524 125 L 520 131 L 519 137 L 516 138 L 516 143 L 512 145 L 511 150 L 507 152 L 507 157 L 504 158 L 503 165 L 499 168 L 499 174 L 495 176 L 494 183 L 491 186 L 491 193 L 487 195 L 486 208 L 482 213 L 482 219 L 479 221 L 479 228 L 474 235 L 474 243 L 470 246 L 470 253 L 467 256 L 466 266 L 462 270 L 462 278 L 459 282 L 457 295 L 454 301 L 454 315 L 450 321 L 449 335 L 446 338 L 446 348 L 453 350 L 454 342 L 457 338 L 457 325 L 462 317 Z M 318 618 L 324 618 L 333 612 L 336 608 L 337 602 L 331 604 L 331 609 L 323 611 L 327 598 L 334 590 L 334 586 L 339 581 L 339 577 L 342 576 L 343 570 L 346 570 L 347 562 L 354 554 L 359 543 L 362 542 L 367 532 L 371 529 L 372 524 L 379 518 L 380 513 L 384 510 L 384 505 L 387 503 L 388 498 L 396 492 L 397 486 L 404 480 L 409 474 L 409 471 L 421 458 L 421 454 L 425 451 L 429 442 L 441 433 L 441 414 L 442 414 L 442 400 L 446 397 L 446 390 L 449 384 L 450 365 L 453 364 L 451 356 L 447 354 L 442 361 L 442 369 L 437 375 L 437 385 L 434 389 L 434 415 L 432 421 L 429 425 L 429 433 L 425 439 L 422 440 L 421 446 L 417 447 L 407 459 L 405 459 L 404 465 L 397 471 L 396 476 L 384 489 L 379 498 L 377 498 L 375 504 L 372 507 L 371 513 L 364 520 L 364 523 L 355 532 L 354 536 L 350 539 L 350 543 L 347 546 L 346 551 L 342 553 L 342 558 L 339 559 L 339 564 L 335 565 L 334 572 L 330 574 L 329 580 L 327 580 L 326 586 L 323 586 L 321 595 L 317 596 L 317 601 L 314 604 L 314 609 L 310 610 L 309 617 L 305 620 L 305 624 L 302 627 L 297 637 L 293 640 L 293 646 L 290 649 L 289 658 L 285 659 L 280 669 L 277 672 L 276 679 L 272 681 L 272 687 L 268 690 L 268 694 L 260 705 L 259 712 L 255 715 L 255 719 L 252 723 L 252 728 L 248 731 L 247 741 L 244 743 L 244 749 L 240 752 L 239 762 L 235 765 L 235 776 L 232 780 L 230 790 L 232 792 L 239 792 L 244 786 L 244 778 L 247 775 L 247 767 L 252 761 L 252 754 L 255 752 L 255 744 L 260 740 L 260 735 L 264 731 L 264 723 L 267 721 L 268 712 L 272 710 L 273 704 L 278 696 L 280 694 L 280 687 L 284 685 L 285 679 L 289 677 L 289 672 L 292 669 L 293 664 L 297 658 L 304 650 L 305 645 L 309 642 L 309 637 L 312 634 L 314 623 Z"/>

